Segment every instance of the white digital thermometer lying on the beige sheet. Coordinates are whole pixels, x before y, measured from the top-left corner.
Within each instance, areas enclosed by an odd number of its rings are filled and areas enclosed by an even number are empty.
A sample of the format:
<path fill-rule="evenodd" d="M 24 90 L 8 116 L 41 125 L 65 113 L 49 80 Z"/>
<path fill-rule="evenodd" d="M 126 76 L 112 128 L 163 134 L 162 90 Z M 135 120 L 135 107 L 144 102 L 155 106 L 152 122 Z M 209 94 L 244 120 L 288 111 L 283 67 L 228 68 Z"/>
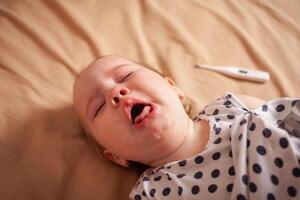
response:
<path fill-rule="evenodd" d="M 204 64 L 198 64 L 196 65 L 196 67 L 216 71 L 234 78 L 240 78 L 261 83 L 264 83 L 270 79 L 270 74 L 268 72 L 260 70 L 245 69 L 234 66 L 211 66 Z"/>

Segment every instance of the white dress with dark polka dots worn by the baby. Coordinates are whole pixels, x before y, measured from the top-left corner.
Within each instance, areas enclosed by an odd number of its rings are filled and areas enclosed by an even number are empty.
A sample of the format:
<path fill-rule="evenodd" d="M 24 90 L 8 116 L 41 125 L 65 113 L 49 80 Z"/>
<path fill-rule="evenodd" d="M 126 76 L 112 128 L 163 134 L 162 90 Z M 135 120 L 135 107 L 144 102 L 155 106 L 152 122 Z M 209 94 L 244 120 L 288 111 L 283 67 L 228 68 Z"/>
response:
<path fill-rule="evenodd" d="M 227 93 L 194 120 L 209 121 L 204 151 L 146 170 L 131 199 L 300 199 L 300 99 L 249 110 Z"/>

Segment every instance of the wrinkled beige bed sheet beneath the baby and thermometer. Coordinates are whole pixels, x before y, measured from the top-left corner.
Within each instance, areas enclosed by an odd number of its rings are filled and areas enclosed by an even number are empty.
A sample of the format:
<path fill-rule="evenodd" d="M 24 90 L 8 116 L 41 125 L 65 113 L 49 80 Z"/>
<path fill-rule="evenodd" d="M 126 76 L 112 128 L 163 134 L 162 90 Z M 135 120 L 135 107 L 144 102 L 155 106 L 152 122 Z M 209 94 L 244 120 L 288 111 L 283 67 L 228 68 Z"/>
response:
<path fill-rule="evenodd" d="M 172 77 L 190 114 L 227 91 L 300 96 L 299 1 L 0 1 L 0 198 L 128 199 L 140 171 L 106 161 L 72 106 L 76 76 L 120 55 Z M 195 68 L 268 71 L 265 84 Z"/>

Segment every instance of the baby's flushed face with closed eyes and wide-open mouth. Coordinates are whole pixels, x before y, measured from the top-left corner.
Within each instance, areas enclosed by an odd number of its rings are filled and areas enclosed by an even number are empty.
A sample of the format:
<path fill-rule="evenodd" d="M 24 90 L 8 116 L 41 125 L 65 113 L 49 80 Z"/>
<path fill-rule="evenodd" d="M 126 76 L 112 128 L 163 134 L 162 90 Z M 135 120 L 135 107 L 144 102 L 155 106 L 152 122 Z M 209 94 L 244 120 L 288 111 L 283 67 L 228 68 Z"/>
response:
<path fill-rule="evenodd" d="M 74 105 L 94 138 L 113 154 L 149 164 L 182 143 L 187 114 L 170 79 L 116 56 L 85 69 L 74 86 Z"/>

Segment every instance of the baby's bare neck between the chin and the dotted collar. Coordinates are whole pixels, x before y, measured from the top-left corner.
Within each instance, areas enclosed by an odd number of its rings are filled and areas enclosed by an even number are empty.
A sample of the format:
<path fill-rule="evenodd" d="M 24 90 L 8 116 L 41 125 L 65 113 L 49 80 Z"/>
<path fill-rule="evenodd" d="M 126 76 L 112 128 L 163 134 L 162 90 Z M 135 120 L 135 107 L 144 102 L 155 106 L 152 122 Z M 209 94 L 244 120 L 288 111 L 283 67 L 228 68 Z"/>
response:
<path fill-rule="evenodd" d="M 182 142 L 182 144 L 172 154 L 162 159 L 150 163 L 152 167 L 159 167 L 172 161 L 184 160 L 193 157 L 202 152 L 208 142 L 209 125 L 205 120 L 195 121 L 191 120 L 189 134 Z"/>

